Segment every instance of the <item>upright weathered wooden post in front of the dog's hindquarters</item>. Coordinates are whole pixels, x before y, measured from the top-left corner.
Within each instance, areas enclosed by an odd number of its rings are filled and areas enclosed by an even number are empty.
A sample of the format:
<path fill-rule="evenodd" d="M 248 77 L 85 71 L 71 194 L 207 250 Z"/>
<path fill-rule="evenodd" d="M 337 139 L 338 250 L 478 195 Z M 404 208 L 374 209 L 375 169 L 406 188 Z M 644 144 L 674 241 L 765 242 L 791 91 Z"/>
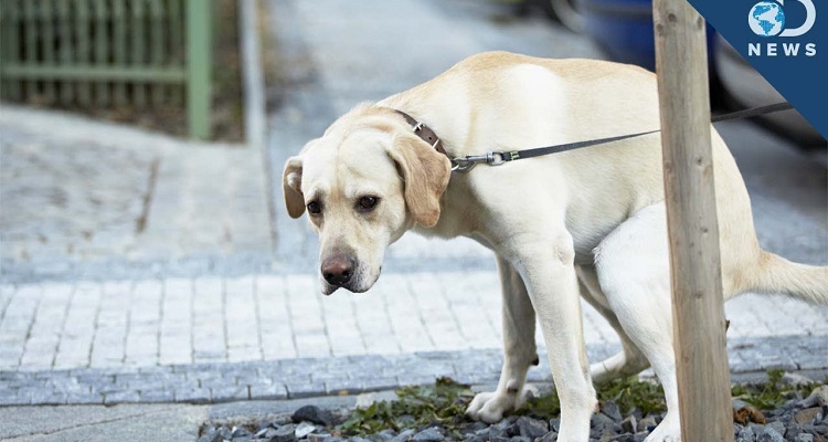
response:
<path fill-rule="evenodd" d="M 656 72 L 684 442 L 733 441 L 704 20 L 655 0 Z"/>

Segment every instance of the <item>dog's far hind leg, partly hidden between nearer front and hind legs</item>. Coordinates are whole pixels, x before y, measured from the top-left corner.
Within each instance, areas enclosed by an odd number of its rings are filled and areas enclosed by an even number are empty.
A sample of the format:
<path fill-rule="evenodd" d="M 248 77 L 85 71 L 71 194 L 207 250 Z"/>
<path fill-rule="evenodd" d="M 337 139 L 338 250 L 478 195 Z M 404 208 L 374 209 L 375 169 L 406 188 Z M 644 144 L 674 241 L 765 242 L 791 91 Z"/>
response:
<path fill-rule="evenodd" d="M 601 290 L 598 275 L 592 265 L 577 267 L 577 278 L 581 284 L 581 296 L 586 299 L 618 334 L 622 341 L 622 350 L 599 362 L 590 365 L 590 377 L 593 383 L 606 383 L 613 379 L 638 375 L 649 367 L 649 361 L 641 350 L 629 339 L 627 333 L 618 323 L 618 317 L 611 309 L 606 295 Z"/>

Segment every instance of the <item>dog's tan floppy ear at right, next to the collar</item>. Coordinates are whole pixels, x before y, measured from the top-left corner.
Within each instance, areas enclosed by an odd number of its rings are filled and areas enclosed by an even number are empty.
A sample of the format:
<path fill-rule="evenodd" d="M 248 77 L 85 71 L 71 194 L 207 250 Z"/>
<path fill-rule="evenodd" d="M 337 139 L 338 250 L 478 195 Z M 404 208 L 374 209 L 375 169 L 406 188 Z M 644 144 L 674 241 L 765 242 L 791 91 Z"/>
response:
<path fill-rule="evenodd" d="M 427 143 L 410 134 L 394 137 L 389 156 L 405 183 L 405 204 L 414 221 L 431 228 L 439 219 L 439 199 L 452 176 L 452 162 Z"/>

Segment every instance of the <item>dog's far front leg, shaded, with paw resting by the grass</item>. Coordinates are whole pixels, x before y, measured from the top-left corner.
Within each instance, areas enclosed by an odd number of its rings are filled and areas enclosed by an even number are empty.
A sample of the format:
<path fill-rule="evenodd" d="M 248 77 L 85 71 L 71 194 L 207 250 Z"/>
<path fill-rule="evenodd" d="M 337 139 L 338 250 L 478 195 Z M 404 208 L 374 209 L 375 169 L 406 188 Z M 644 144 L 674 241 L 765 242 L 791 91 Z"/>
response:
<path fill-rule="evenodd" d="M 522 404 L 527 371 L 530 365 L 538 364 L 534 309 L 527 286 L 514 267 L 500 256 L 498 273 L 503 303 L 503 369 L 497 390 L 477 394 L 466 411 L 473 419 L 490 423 L 499 421 L 503 413 Z"/>

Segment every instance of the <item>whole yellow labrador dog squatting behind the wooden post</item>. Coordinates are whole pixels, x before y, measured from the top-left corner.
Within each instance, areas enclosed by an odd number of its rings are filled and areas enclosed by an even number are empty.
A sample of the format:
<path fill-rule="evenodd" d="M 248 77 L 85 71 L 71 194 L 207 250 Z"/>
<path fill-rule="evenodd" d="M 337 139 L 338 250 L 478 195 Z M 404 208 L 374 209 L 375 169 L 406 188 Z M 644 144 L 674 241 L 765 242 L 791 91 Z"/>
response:
<path fill-rule="evenodd" d="M 414 120 L 440 144 L 426 141 Z M 478 166 L 468 173 L 453 173 L 448 158 L 658 126 L 650 72 L 602 61 L 484 53 L 340 117 L 287 161 L 285 202 L 293 218 L 307 210 L 319 234 L 325 294 L 371 288 L 385 248 L 408 230 L 468 236 L 495 252 L 506 358 L 497 390 L 478 394 L 470 417 L 495 422 L 520 404 L 527 370 L 537 361 L 537 319 L 561 399 L 559 441 L 588 439 L 593 381 L 648 365 L 664 385 L 668 412 L 647 441 L 678 441 L 659 135 Z M 828 267 L 795 264 L 760 249 L 736 165 L 715 130 L 712 137 L 725 297 L 764 292 L 828 303 Z M 592 366 L 578 295 L 623 343 L 622 352 Z"/>

